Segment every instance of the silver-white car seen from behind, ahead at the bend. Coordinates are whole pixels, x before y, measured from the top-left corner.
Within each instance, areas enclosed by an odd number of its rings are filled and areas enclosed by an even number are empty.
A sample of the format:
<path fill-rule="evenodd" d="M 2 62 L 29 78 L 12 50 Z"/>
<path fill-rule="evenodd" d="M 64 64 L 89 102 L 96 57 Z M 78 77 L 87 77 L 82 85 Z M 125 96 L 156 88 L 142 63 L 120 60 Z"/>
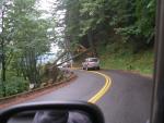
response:
<path fill-rule="evenodd" d="M 99 70 L 99 59 L 98 58 L 87 58 L 85 61 L 82 63 L 82 69 L 83 70 Z"/>

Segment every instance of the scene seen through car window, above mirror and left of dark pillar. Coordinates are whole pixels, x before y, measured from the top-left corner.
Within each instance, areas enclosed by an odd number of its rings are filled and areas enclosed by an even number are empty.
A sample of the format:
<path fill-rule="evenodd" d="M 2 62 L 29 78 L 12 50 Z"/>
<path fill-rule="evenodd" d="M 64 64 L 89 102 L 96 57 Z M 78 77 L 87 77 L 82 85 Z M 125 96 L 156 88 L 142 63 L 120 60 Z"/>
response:
<path fill-rule="evenodd" d="M 156 0 L 0 0 L 0 108 L 84 100 L 107 123 L 147 123 L 155 12 Z"/>

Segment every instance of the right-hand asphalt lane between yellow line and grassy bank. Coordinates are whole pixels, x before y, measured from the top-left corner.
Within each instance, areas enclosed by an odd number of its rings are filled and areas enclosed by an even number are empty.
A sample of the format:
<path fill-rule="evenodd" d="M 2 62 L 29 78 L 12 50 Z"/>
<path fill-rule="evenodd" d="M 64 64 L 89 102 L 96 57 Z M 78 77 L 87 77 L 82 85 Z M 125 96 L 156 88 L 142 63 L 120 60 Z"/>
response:
<path fill-rule="evenodd" d="M 103 73 L 113 79 L 109 91 L 97 101 L 107 123 L 145 123 L 150 115 L 152 81 L 118 71 Z"/>

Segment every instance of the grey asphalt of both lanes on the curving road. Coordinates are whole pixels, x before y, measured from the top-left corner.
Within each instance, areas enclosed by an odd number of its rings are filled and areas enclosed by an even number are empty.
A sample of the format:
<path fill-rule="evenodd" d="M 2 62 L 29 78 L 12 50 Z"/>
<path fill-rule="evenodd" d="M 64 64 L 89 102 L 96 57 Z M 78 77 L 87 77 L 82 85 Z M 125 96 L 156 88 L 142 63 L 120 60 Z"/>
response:
<path fill-rule="evenodd" d="M 74 70 L 78 78 L 63 88 L 30 101 L 90 100 L 106 84 L 103 75 Z M 150 116 L 152 79 L 121 71 L 98 71 L 112 83 L 96 99 L 106 123 L 147 123 Z"/>

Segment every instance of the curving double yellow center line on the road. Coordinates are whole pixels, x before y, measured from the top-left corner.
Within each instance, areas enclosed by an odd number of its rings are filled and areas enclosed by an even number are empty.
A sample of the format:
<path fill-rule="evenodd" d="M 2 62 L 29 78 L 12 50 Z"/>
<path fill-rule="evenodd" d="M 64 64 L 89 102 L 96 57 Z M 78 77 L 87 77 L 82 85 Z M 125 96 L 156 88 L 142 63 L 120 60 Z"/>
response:
<path fill-rule="evenodd" d="M 72 70 L 78 70 L 78 67 L 73 67 Z M 106 74 L 103 74 L 101 72 L 96 72 L 96 71 L 91 71 L 91 73 L 94 74 L 98 74 L 103 77 L 105 77 L 105 85 L 103 86 L 103 88 L 97 91 L 91 99 L 87 100 L 87 102 L 91 103 L 95 103 L 96 101 L 98 101 L 106 93 L 107 90 L 110 88 L 112 86 L 112 78 L 109 76 L 107 76 Z"/>

